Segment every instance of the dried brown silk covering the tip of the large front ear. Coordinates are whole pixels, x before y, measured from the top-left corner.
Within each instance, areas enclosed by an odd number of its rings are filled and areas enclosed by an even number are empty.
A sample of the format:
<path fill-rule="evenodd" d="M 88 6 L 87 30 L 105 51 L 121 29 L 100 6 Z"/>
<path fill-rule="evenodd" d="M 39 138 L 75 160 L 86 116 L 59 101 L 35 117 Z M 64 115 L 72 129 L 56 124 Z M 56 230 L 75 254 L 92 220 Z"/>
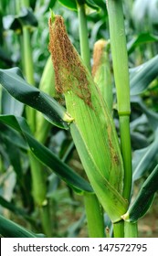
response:
<path fill-rule="evenodd" d="M 90 105 L 90 88 L 85 68 L 69 41 L 63 18 L 56 16 L 52 26 L 50 18 L 48 25 L 50 33 L 48 49 L 53 59 L 57 91 L 65 93 L 73 88 L 73 91 Z M 73 74 L 73 77 L 70 74 Z"/>

